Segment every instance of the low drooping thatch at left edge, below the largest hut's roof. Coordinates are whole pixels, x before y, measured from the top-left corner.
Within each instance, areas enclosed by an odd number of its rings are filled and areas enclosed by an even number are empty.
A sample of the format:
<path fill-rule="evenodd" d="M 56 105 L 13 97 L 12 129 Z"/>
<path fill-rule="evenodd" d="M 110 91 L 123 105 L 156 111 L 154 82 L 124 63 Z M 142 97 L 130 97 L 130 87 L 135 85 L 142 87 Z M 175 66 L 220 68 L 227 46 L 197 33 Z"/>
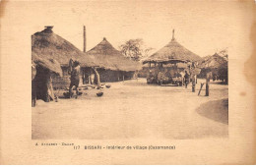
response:
<path fill-rule="evenodd" d="M 40 66 L 42 68 L 48 69 L 49 71 L 59 75 L 62 77 L 62 70 L 60 64 L 54 59 L 48 59 L 39 57 L 36 53 L 32 54 L 32 79 L 35 77 L 36 74 L 36 66 Z"/>

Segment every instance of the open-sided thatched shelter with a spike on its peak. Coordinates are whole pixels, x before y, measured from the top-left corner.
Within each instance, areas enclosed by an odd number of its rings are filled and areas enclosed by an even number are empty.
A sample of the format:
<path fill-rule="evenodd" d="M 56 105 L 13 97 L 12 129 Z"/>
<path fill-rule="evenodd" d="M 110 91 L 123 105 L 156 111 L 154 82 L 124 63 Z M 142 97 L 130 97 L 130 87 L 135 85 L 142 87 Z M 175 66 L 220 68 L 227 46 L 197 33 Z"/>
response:
<path fill-rule="evenodd" d="M 182 84 L 184 71 L 190 72 L 191 67 L 195 69 L 201 59 L 177 42 L 173 29 L 171 41 L 143 60 L 144 65 L 148 64 L 148 84 Z M 200 71 L 196 69 L 195 72 Z"/>

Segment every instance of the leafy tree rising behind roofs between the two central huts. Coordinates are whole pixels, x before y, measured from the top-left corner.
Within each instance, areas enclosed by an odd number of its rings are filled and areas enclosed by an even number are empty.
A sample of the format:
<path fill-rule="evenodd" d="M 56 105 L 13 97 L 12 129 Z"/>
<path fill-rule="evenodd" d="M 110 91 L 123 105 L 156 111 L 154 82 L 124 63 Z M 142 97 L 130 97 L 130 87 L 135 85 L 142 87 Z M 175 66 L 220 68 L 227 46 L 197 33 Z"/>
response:
<path fill-rule="evenodd" d="M 146 48 L 141 38 L 130 39 L 120 45 L 119 48 L 123 55 L 134 61 L 140 61 L 143 57 L 147 57 L 149 52 L 153 50 L 151 47 Z"/>

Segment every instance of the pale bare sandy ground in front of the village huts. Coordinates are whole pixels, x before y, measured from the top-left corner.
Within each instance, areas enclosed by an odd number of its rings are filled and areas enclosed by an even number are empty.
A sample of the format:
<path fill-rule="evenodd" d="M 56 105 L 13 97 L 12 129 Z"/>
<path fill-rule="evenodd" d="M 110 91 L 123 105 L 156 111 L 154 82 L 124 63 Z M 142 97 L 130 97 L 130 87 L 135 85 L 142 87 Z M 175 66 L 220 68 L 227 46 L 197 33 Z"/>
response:
<path fill-rule="evenodd" d="M 130 80 L 84 90 L 78 99 L 37 101 L 32 107 L 32 139 L 208 139 L 228 137 L 228 85 L 211 83 L 198 96 L 184 86 Z M 57 92 L 59 95 L 62 92 Z"/>

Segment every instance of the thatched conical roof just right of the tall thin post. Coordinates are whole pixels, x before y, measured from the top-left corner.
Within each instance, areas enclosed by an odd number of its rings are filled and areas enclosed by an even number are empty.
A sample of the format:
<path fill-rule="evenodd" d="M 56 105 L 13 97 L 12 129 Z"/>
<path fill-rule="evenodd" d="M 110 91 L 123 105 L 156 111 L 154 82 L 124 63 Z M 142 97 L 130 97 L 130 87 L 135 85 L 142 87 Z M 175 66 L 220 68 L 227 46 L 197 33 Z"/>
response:
<path fill-rule="evenodd" d="M 96 47 L 87 52 L 88 56 L 96 58 L 100 67 L 109 70 L 136 71 L 142 68 L 139 62 L 129 60 L 103 38 Z"/>

